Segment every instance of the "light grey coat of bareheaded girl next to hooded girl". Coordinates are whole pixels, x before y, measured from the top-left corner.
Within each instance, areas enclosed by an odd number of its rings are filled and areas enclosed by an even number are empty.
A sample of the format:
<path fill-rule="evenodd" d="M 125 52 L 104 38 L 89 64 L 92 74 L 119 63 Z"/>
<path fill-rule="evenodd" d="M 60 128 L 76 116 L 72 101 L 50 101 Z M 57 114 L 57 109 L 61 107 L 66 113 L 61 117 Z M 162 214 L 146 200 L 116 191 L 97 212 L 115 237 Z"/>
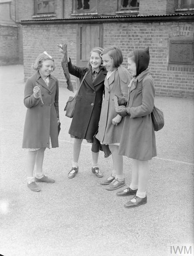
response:
<path fill-rule="evenodd" d="M 102 103 L 98 134 L 96 134 L 96 138 L 102 144 L 120 142 L 124 120 L 122 118 L 118 125 L 112 124 L 112 119 L 117 115 L 114 108 L 114 95 L 127 99 L 130 80 L 130 73 L 122 66 L 118 67 L 109 79 L 105 78 L 105 97 Z"/>

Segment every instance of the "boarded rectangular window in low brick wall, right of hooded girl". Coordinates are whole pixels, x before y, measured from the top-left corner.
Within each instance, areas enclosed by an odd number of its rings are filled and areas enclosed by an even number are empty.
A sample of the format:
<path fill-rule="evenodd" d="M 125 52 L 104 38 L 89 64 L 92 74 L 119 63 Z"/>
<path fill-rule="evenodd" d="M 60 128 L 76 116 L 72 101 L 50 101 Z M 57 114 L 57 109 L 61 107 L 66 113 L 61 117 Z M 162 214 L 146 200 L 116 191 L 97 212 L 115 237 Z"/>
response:
<path fill-rule="evenodd" d="M 194 42 L 193 41 L 170 41 L 169 64 L 193 65 Z"/>

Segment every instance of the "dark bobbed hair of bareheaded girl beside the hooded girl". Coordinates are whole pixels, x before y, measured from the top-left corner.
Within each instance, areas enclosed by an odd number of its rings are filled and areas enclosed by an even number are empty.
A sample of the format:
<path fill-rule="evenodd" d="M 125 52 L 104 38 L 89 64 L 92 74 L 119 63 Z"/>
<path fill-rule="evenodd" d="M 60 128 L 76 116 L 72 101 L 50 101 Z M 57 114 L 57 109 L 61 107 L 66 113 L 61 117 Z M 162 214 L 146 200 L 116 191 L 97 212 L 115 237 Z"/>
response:
<path fill-rule="evenodd" d="M 113 67 L 119 67 L 123 62 L 123 54 L 121 52 L 121 49 L 116 46 L 109 46 L 103 50 L 101 53 L 101 56 L 103 54 L 108 53 L 110 58 L 113 60 Z"/>

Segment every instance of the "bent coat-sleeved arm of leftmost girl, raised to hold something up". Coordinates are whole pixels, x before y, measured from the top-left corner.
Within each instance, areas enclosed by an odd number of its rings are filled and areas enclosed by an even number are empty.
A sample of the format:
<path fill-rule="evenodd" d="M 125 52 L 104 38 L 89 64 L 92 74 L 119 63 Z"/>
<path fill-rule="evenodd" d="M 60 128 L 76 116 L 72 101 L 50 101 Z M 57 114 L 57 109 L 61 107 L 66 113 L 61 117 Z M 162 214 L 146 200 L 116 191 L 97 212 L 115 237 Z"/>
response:
<path fill-rule="evenodd" d="M 35 80 L 33 76 L 27 79 L 24 88 L 24 105 L 27 108 L 32 108 L 39 104 L 39 99 L 34 98 L 33 88 L 35 86 Z"/>

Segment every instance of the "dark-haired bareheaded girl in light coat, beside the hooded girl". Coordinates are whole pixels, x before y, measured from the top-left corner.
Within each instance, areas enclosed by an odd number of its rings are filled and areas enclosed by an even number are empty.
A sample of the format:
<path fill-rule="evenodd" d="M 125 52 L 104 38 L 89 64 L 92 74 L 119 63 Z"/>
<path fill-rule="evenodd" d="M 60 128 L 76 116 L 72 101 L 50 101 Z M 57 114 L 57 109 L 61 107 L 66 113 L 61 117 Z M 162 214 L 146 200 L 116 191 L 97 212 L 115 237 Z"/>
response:
<path fill-rule="evenodd" d="M 101 56 L 103 65 L 108 72 L 105 78 L 105 97 L 102 102 L 96 138 L 101 144 L 109 145 L 112 152 L 113 171 L 110 177 L 100 184 L 108 185 L 105 187 L 107 190 L 114 190 L 125 185 L 123 157 L 118 155 L 123 118 L 115 112 L 114 95 L 127 99 L 128 84 L 130 83 L 131 76 L 127 69 L 121 66 L 123 56 L 119 48 L 110 46 L 103 50 Z"/>

